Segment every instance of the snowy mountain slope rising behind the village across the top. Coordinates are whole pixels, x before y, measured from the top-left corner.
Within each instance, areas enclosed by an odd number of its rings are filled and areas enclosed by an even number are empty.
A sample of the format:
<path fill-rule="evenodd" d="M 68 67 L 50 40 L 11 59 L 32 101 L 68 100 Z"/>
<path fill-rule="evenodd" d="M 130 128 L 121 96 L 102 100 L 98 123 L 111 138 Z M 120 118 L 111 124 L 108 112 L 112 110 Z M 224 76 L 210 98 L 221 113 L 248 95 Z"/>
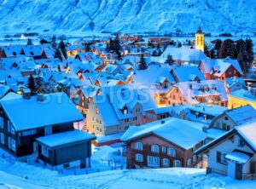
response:
<path fill-rule="evenodd" d="M 5 31 L 253 32 L 255 0 L 0 0 Z"/>

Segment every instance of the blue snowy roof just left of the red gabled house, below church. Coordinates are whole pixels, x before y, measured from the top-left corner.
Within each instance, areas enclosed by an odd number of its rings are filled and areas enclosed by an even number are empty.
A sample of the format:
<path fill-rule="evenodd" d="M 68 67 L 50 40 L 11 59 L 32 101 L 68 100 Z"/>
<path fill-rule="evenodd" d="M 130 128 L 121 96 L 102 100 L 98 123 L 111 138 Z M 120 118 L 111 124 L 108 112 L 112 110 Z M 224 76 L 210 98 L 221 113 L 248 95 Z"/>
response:
<path fill-rule="evenodd" d="M 176 82 L 187 82 L 195 81 L 196 78 L 201 80 L 206 80 L 206 77 L 202 74 L 197 66 L 173 66 L 172 72 Z"/>

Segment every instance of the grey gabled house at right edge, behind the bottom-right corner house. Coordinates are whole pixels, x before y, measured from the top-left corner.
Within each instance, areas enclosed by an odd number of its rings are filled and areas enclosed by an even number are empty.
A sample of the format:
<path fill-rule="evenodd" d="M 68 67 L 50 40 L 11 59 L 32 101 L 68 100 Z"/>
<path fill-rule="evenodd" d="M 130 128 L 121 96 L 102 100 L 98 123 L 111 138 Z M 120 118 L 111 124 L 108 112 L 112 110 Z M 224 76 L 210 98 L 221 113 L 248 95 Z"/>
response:
<path fill-rule="evenodd" d="M 256 125 L 256 110 L 253 106 L 247 105 L 226 110 L 214 117 L 209 127 L 230 130 L 244 123 L 255 123 Z"/>

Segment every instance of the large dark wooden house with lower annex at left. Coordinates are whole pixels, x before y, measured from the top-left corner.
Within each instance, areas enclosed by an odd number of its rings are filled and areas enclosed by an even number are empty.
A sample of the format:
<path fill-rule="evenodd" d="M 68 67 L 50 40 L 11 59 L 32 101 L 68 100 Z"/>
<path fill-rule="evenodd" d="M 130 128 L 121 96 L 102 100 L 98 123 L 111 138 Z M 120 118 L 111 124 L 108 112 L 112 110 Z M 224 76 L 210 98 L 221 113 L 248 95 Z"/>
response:
<path fill-rule="evenodd" d="M 34 154 L 51 166 L 89 167 L 96 137 L 73 128 L 83 119 L 64 93 L 7 94 L 0 100 L 0 147 L 20 160 Z"/>

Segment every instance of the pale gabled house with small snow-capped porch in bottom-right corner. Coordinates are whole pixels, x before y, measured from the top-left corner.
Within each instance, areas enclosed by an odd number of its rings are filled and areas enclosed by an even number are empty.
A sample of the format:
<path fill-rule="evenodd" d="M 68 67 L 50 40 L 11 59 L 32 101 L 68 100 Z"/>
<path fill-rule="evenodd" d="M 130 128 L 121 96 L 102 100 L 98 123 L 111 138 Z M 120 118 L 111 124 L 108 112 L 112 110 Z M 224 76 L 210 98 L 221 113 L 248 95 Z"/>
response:
<path fill-rule="evenodd" d="M 256 124 L 246 123 L 195 151 L 207 154 L 207 174 L 217 173 L 237 180 L 255 180 Z"/>

